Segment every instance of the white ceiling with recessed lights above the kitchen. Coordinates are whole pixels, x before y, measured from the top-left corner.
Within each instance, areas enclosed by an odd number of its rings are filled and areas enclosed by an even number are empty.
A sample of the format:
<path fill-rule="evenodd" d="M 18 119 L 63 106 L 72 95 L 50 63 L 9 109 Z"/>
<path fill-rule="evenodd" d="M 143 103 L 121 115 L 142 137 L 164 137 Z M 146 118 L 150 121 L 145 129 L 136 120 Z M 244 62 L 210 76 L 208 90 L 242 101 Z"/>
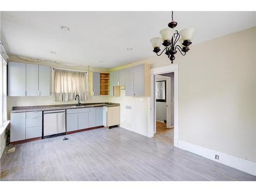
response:
<path fill-rule="evenodd" d="M 155 56 L 150 39 L 160 36 L 171 12 L 1 14 L 1 40 L 8 54 L 112 68 Z M 255 12 L 174 12 L 174 20 L 178 31 L 196 28 L 193 44 L 197 44 L 254 27 Z M 63 31 L 60 26 L 70 30 Z"/>

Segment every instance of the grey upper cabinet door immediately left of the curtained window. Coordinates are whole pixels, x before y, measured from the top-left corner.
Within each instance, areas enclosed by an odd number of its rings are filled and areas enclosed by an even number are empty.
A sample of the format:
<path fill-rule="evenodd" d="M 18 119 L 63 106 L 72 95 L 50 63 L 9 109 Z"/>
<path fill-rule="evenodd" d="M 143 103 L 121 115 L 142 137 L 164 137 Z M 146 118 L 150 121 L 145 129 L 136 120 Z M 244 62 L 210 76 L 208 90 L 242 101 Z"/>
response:
<path fill-rule="evenodd" d="M 39 95 L 50 96 L 50 67 L 38 66 L 39 68 Z"/>

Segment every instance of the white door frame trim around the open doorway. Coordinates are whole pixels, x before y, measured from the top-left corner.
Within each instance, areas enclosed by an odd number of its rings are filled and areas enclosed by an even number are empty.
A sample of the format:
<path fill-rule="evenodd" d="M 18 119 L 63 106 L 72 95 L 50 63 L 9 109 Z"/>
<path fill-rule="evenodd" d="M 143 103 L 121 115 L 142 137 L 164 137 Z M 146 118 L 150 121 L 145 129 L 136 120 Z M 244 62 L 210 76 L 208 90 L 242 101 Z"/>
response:
<path fill-rule="evenodd" d="M 151 115 L 150 115 L 150 126 L 148 126 L 147 136 L 154 137 L 156 130 L 156 92 L 155 92 L 155 75 L 163 73 L 174 72 L 174 146 L 178 147 L 179 140 L 179 65 L 178 63 L 173 65 L 167 65 L 162 67 L 156 67 L 151 69 Z"/>

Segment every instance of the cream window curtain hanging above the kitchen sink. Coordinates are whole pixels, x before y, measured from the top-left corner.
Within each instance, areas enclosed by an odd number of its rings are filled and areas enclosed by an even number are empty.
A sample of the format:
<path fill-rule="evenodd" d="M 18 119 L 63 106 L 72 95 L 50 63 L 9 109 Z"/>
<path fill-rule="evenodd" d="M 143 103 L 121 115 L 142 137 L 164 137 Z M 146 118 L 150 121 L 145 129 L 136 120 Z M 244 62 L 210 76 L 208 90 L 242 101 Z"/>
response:
<path fill-rule="evenodd" d="M 86 73 L 54 69 L 54 100 L 86 100 Z"/>

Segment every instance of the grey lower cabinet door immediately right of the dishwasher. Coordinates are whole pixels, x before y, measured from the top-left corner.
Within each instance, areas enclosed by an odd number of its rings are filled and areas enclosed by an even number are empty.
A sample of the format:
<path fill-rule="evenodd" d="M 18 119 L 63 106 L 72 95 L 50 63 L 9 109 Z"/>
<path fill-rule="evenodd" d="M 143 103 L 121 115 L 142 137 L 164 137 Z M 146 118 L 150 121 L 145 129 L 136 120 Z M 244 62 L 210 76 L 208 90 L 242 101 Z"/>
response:
<path fill-rule="evenodd" d="M 78 109 L 67 110 L 67 132 L 78 130 Z"/>

